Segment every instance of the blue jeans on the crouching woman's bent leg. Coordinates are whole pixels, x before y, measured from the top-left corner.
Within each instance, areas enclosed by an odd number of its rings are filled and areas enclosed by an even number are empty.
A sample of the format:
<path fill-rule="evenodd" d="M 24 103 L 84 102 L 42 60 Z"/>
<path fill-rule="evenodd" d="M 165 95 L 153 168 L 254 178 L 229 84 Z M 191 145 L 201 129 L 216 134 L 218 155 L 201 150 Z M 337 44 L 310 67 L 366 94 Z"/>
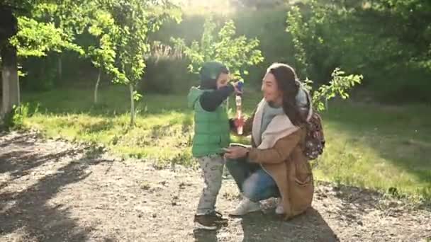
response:
<path fill-rule="evenodd" d="M 274 179 L 259 164 L 250 163 L 247 159 L 228 159 L 225 166 L 240 192 L 253 202 L 280 197 Z"/>

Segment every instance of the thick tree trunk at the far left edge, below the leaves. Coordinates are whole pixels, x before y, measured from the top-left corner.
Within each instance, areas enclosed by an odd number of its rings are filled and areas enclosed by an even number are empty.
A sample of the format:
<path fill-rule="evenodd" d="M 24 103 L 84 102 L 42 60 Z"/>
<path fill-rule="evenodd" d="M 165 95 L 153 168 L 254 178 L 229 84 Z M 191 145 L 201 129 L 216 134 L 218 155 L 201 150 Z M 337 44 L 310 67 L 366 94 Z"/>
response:
<path fill-rule="evenodd" d="M 13 105 L 20 104 L 18 62 L 16 48 L 6 45 L 1 49 L 1 78 L 3 80 L 2 115 L 12 111 Z"/>

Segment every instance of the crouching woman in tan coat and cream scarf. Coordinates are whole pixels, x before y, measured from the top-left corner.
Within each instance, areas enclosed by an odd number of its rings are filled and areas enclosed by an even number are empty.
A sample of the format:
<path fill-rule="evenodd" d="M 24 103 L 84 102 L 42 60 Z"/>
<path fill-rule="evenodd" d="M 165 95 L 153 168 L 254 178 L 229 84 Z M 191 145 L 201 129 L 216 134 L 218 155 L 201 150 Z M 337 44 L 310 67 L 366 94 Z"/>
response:
<path fill-rule="evenodd" d="M 243 195 L 230 214 L 257 211 L 259 201 L 280 197 L 276 213 L 289 219 L 305 212 L 313 200 L 313 174 L 303 154 L 310 98 L 287 64 L 267 69 L 262 92 L 264 98 L 244 125 L 244 134 L 252 134 L 252 147 L 225 149 L 226 166 Z"/>

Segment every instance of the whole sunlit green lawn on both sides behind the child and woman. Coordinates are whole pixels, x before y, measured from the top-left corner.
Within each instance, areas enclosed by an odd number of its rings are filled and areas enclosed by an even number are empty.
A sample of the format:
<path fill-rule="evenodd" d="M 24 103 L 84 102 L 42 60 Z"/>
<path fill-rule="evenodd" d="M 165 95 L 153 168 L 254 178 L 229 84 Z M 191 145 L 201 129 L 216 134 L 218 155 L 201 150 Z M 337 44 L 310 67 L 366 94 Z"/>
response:
<path fill-rule="evenodd" d="M 245 94 L 250 113 L 259 93 Z M 38 112 L 24 125 L 47 137 L 103 144 L 114 154 L 159 165 L 194 165 L 190 145 L 191 110 L 185 95 L 144 95 L 135 127 L 128 125 L 128 90 L 104 88 L 101 105 L 92 104 L 92 90 L 62 89 L 23 93 Z M 415 200 L 431 200 L 431 112 L 429 106 L 381 106 L 333 102 L 323 114 L 327 148 L 315 168 L 318 180 L 359 185 Z M 235 142 L 247 142 L 247 139 Z"/>

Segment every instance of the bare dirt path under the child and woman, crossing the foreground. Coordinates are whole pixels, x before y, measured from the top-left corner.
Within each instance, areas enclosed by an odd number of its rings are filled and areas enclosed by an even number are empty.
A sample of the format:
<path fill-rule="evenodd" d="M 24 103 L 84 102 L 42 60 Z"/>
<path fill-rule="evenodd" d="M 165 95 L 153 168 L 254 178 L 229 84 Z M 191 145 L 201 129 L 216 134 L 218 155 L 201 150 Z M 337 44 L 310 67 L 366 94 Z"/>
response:
<path fill-rule="evenodd" d="M 281 221 L 273 209 L 194 231 L 198 171 L 85 156 L 35 134 L 0 134 L 0 241 L 427 241 L 430 209 L 357 188 L 318 185 L 314 209 Z M 237 204 L 226 179 L 218 209 Z M 266 206 L 270 207 L 271 201 Z"/>

